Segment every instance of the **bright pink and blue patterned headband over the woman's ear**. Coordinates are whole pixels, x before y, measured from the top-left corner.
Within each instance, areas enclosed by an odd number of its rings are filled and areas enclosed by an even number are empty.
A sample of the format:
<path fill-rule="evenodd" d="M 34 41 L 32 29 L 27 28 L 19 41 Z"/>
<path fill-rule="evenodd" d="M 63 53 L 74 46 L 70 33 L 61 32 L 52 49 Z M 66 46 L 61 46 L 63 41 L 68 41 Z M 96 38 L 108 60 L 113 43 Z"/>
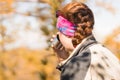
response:
<path fill-rule="evenodd" d="M 64 17 L 58 16 L 57 29 L 64 35 L 72 37 L 74 36 L 74 32 L 76 31 L 76 26 Z"/>

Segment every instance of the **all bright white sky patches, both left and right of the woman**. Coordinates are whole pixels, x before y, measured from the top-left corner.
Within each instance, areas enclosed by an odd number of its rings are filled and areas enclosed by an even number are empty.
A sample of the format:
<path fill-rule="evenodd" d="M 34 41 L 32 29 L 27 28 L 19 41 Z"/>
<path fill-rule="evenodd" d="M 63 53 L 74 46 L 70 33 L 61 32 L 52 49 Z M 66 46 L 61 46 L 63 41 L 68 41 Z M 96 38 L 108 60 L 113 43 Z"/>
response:
<path fill-rule="evenodd" d="M 116 9 L 115 14 L 106 11 L 106 9 L 104 8 L 97 7 L 94 4 L 95 0 L 90 0 L 86 3 L 94 12 L 94 34 L 99 42 L 102 42 L 104 38 L 112 32 L 113 29 L 115 29 L 117 26 L 120 26 L 120 0 L 106 0 L 106 2 L 111 3 L 114 6 L 114 8 Z M 30 11 L 34 9 L 36 4 L 24 3 L 23 5 L 23 3 L 21 3 L 17 4 L 17 6 L 18 11 L 25 12 L 26 10 Z M 31 25 L 33 31 L 23 31 L 28 23 L 29 25 Z M 25 46 L 32 49 L 39 49 L 47 46 L 47 43 L 45 42 L 46 37 L 44 37 L 42 33 L 39 33 L 39 26 L 41 24 L 42 23 L 38 23 L 38 20 L 33 17 L 26 17 L 22 15 L 14 15 L 8 18 L 6 21 L 4 21 L 4 25 L 7 26 L 8 31 L 19 29 L 19 32 L 17 33 L 17 38 L 19 39 L 17 39 L 17 42 L 15 42 L 14 45 L 11 44 L 7 47 L 14 48 L 19 46 Z"/>

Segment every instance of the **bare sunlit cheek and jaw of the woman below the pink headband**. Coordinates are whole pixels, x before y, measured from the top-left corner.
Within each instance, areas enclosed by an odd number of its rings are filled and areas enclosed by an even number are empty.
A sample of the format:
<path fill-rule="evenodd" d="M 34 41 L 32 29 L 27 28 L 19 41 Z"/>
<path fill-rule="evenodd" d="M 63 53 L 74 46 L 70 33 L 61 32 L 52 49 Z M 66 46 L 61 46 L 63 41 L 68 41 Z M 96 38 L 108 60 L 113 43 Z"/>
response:
<path fill-rule="evenodd" d="M 59 32 L 59 39 L 66 50 L 73 50 L 72 38 Z"/>

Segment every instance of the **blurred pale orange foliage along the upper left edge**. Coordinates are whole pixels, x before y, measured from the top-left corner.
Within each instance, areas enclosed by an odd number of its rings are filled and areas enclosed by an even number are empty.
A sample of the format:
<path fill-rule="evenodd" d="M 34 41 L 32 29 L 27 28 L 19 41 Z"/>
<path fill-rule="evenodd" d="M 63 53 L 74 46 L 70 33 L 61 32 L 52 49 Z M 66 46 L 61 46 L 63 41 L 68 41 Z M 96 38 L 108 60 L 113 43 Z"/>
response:
<path fill-rule="evenodd" d="M 3 52 L 5 51 L 5 44 L 13 41 L 11 36 L 7 34 L 7 29 L 2 23 L 6 18 L 5 16 L 13 12 L 13 1 L 14 0 L 0 0 L 0 47 Z"/>

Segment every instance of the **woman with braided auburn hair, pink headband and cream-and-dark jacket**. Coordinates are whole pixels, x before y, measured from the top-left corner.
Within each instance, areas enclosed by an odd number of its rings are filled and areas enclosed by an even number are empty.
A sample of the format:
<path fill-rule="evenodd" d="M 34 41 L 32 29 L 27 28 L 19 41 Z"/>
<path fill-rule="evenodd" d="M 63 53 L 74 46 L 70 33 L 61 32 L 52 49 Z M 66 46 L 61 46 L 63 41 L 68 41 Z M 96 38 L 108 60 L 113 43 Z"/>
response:
<path fill-rule="evenodd" d="M 88 6 L 72 2 L 57 12 L 61 80 L 120 80 L 120 62 L 92 35 L 94 16 Z M 57 37 L 58 37 L 57 36 Z"/>

